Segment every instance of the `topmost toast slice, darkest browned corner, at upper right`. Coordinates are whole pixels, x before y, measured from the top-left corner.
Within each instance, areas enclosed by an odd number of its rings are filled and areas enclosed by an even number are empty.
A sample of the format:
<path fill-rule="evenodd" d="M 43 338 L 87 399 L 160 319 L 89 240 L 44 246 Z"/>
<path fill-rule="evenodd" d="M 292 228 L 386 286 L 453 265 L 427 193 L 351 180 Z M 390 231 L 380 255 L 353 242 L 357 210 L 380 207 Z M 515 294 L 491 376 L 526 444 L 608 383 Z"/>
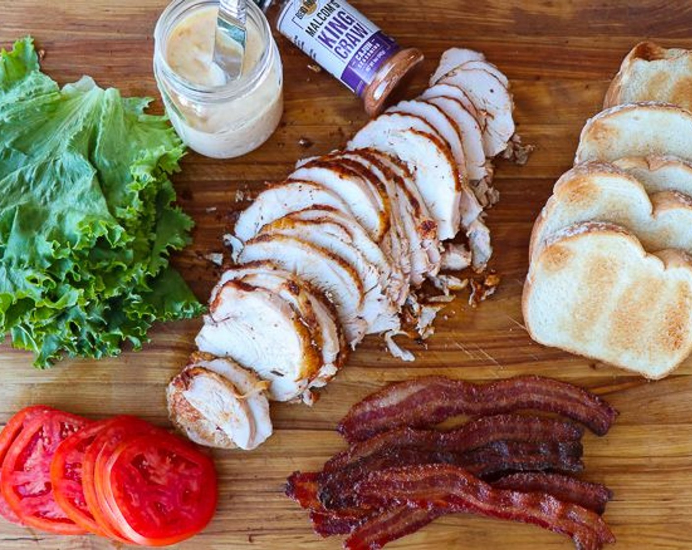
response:
<path fill-rule="evenodd" d="M 603 109 L 637 101 L 665 101 L 692 110 L 692 52 L 639 42 L 605 93 Z"/>

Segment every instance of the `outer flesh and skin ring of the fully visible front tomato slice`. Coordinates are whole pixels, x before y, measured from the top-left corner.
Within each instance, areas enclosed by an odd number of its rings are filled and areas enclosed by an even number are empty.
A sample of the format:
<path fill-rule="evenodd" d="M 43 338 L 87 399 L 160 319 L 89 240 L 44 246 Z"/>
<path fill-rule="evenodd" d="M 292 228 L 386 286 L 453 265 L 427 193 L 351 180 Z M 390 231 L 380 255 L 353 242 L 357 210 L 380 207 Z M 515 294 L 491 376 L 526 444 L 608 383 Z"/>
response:
<path fill-rule="evenodd" d="M 175 452 L 198 464 L 202 472 L 201 479 L 205 482 L 204 491 L 208 493 L 210 497 L 206 499 L 208 502 L 206 502 L 204 506 L 205 509 L 199 508 L 201 516 L 197 518 L 189 529 L 178 533 L 161 533 L 161 536 L 147 536 L 143 533 L 138 533 L 138 531 L 129 524 L 127 517 L 125 517 L 126 513 L 123 512 L 122 509 L 123 503 L 118 502 L 116 488 L 113 486 L 118 483 L 118 476 L 114 475 L 114 471 L 118 469 L 119 462 L 122 463 L 123 461 L 134 459 L 140 451 L 147 448 L 155 448 L 156 446 Z M 161 472 L 158 472 L 158 475 L 162 475 Z M 100 471 L 100 478 L 100 483 L 98 484 L 99 497 L 104 500 L 104 504 L 113 514 L 113 520 L 116 520 L 118 526 L 128 538 L 136 542 L 136 544 L 143 546 L 169 546 L 170 544 L 175 544 L 176 542 L 181 542 L 197 535 L 197 533 L 208 526 L 215 514 L 218 504 L 217 477 L 212 459 L 197 450 L 197 448 L 194 448 L 192 444 L 168 432 L 163 432 L 161 437 L 156 439 L 144 436 L 121 443 L 111 455 L 106 468 Z M 167 486 L 170 486 L 170 484 Z"/>

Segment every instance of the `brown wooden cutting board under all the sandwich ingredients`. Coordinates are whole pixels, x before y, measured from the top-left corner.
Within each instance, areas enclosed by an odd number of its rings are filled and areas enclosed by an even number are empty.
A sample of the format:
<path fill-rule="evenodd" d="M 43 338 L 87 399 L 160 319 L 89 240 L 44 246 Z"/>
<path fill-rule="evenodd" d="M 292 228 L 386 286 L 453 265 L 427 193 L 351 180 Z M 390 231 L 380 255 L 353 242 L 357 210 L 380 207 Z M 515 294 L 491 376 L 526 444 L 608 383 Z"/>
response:
<path fill-rule="evenodd" d="M 604 438 L 585 439 L 585 478 L 615 493 L 606 518 L 619 549 L 692 548 L 692 360 L 673 376 L 647 383 L 531 342 L 522 322 L 520 294 L 527 271 L 531 223 L 555 179 L 572 163 L 579 131 L 599 110 L 608 81 L 629 49 L 646 37 L 666 46 L 692 47 L 692 4 L 661 0 L 354 0 L 401 44 L 426 54 L 412 93 L 424 87 L 439 55 L 450 46 L 475 48 L 506 73 L 516 102 L 518 131 L 536 152 L 525 167 L 498 162 L 502 198 L 488 220 L 502 275 L 498 293 L 472 309 L 460 296 L 440 315 L 426 345 L 408 343 L 415 363 L 401 363 L 368 338 L 347 367 L 309 409 L 275 405 L 274 436 L 254 452 L 216 452 L 219 511 L 208 529 L 184 549 L 338 549 L 319 540 L 307 514 L 284 497 L 293 470 L 318 468 L 343 442 L 334 433 L 350 405 L 391 381 L 446 374 L 489 381 L 543 374 L 590 387 L 621 412 Z M 82 74 L 125 95 L 157 98 L 152 76 L 152 33 L 165 0 L 6 0 L 0 8 L 0 44 L 31 33 L 46 51 L 44 69 L 61 83 Z M 180 203 L 197 221 L 194 244 L 176 264 L 201 300 L 219 275 L 203 258 L 220 252 L 229 214 L 277 180 L 303 156 L 345 143 L 365 122 L 360 102 L 280 39 L 286 111 L 280 129 L 257 152 L 237 161 L 189 154 L 174 179 Z M 299 145 L 300 138 L 309 146 Z M 40 372 L 31 358 L 0 347 L 0 419 L 30 403 L 63 407 L 91 418 L 129 413 L 167 425 L 165 385 L 193 349 L 199 322 L 156 327 L 140 353 L 112 360 L 64 361 Z M 0 523 L 0 549 L 107 549 L 94 537 L 64 538 Z M 569 549 L 561 536 L 533 526 L 477 517 L 446 517 L 391 544 L 395 549 Z"/>

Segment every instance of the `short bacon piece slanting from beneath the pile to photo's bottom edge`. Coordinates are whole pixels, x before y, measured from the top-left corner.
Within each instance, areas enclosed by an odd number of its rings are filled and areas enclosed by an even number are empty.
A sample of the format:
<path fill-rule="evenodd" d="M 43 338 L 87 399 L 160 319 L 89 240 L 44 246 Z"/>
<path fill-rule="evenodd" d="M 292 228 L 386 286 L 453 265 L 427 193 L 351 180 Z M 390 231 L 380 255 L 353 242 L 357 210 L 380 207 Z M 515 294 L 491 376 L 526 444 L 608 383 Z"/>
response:
<path fill-rule="evenodd" d="M 344 548 L 345 550 L 378 550 L 392 540 L 415 533 L 445 513 L 447 511 L 441 508 L 426 510 L 394 506 L 355 529 L 345 540 Z"/>

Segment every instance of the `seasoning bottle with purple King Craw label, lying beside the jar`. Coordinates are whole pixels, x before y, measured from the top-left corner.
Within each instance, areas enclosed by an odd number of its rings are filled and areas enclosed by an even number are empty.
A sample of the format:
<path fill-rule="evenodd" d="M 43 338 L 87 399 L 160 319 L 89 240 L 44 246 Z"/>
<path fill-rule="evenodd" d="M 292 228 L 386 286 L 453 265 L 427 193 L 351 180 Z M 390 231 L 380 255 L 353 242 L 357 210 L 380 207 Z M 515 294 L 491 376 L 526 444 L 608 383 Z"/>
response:
<path fill-rule="evenodd" d="M 284 0 L 277 28 L 363 98 L 370 116 L 423 61 L 419 49 L 401 48 L 343 0 Z"/>

